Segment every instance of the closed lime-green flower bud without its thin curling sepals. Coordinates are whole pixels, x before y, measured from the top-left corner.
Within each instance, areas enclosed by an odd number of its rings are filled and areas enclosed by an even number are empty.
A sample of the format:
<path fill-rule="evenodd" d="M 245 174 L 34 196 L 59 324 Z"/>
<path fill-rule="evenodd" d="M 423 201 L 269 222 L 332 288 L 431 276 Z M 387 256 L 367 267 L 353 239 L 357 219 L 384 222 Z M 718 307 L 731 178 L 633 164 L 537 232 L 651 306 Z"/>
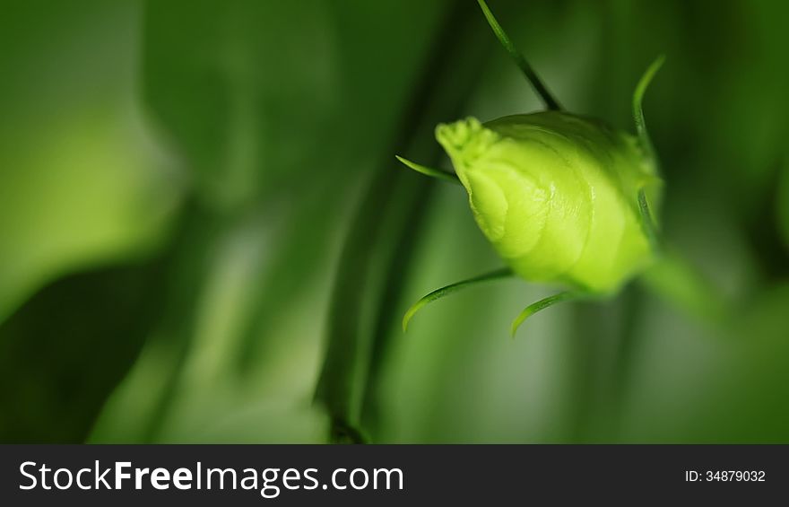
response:
<path fill-rule="evenodd" d="M 653 258 L 638 193 L 660 189 L 637 138 L 555 110 L 436 128 L 499 256 L 525 280 L 609 293 Z"/>

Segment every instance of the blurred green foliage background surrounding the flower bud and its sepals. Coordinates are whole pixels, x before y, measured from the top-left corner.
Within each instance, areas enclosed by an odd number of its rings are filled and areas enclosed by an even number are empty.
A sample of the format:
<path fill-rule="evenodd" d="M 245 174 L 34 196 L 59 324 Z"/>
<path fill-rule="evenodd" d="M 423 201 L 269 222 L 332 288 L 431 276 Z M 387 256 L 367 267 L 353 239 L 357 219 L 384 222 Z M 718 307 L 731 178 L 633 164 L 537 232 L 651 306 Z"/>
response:
<path fill-rule="evenodd" d="M 449 167 L 438 122 L 540 109 L 471 0 L 3 0 L 0 441 L 789 441 L 789 4 L 490 6 L 616 127 L 666 55 L 687 273 L 515 340 L 551 288 L 490 284 L 403 335 L 500 263 L 394 154 Z"/>

